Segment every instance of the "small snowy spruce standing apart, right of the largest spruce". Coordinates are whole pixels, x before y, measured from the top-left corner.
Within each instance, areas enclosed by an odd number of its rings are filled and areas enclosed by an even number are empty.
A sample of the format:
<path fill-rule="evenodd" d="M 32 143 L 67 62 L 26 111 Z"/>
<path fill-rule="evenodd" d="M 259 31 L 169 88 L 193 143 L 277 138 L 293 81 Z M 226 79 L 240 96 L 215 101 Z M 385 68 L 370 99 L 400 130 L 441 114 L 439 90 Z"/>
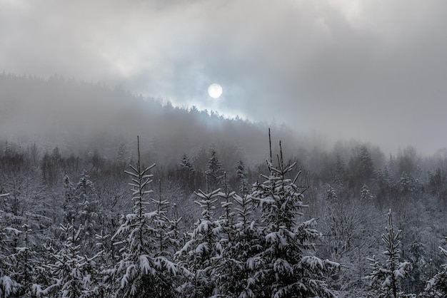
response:
<path fill-rule="evenodd" d="M 371 262 L 372 272 L 366 279 L 371 279 L 371 291 L 373 297 L 413 297 L 412 294 L 405 294 L 401 289 L 401 281 L 404 277 L 408 276 L 408 272 L 411 270 L 411 263 L 399 262 L 401 250 L 399 245 L 401 241 L 399 237 L 401 230 L 394 230 L 393 218 L 391 217 L 391 210 L 388 212 L 388 228 L 386 234 L 382 235 L 383 243 L 385 244 L 386 251 L 383 255 L 386 255 L 386 266 L 381 266 L 376 257 L 368 259 Z"/>

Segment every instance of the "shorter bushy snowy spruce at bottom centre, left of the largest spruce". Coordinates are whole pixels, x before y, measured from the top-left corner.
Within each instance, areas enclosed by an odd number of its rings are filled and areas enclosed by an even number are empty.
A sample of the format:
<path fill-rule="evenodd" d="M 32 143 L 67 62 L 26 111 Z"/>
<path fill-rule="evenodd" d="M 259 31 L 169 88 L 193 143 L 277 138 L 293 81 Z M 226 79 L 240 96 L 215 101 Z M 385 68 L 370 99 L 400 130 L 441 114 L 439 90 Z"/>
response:
<path fill-rule="evenodd" d="M 184 268 L 185 277 L 180 289 L 182 297 L 211 297 L 216 294 L 213 269 L 216 258 L 221 255 L 221 225 L 219 220 L 213 220 L 213 210 L 216 209 L 214 203 L 221 197 L 221 190 L 209 193 L 199 190 L 194 193 L 199 197 L 194 202 L 202 208 L 202 218 L 194 225 L 194 231 L 189 233 L 189 241 L 176 252 L 176 260 Z"/>

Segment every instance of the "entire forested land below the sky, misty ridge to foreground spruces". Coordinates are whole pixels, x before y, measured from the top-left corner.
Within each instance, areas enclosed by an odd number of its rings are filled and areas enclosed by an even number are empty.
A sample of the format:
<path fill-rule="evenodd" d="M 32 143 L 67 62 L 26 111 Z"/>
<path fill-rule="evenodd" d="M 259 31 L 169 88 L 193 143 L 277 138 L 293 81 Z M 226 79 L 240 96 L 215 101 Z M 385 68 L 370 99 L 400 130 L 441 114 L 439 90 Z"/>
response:
<path fill-rule="evenodd" d="M 0 87 L 0 297 L 447 296 L 445 149 Z"/>

